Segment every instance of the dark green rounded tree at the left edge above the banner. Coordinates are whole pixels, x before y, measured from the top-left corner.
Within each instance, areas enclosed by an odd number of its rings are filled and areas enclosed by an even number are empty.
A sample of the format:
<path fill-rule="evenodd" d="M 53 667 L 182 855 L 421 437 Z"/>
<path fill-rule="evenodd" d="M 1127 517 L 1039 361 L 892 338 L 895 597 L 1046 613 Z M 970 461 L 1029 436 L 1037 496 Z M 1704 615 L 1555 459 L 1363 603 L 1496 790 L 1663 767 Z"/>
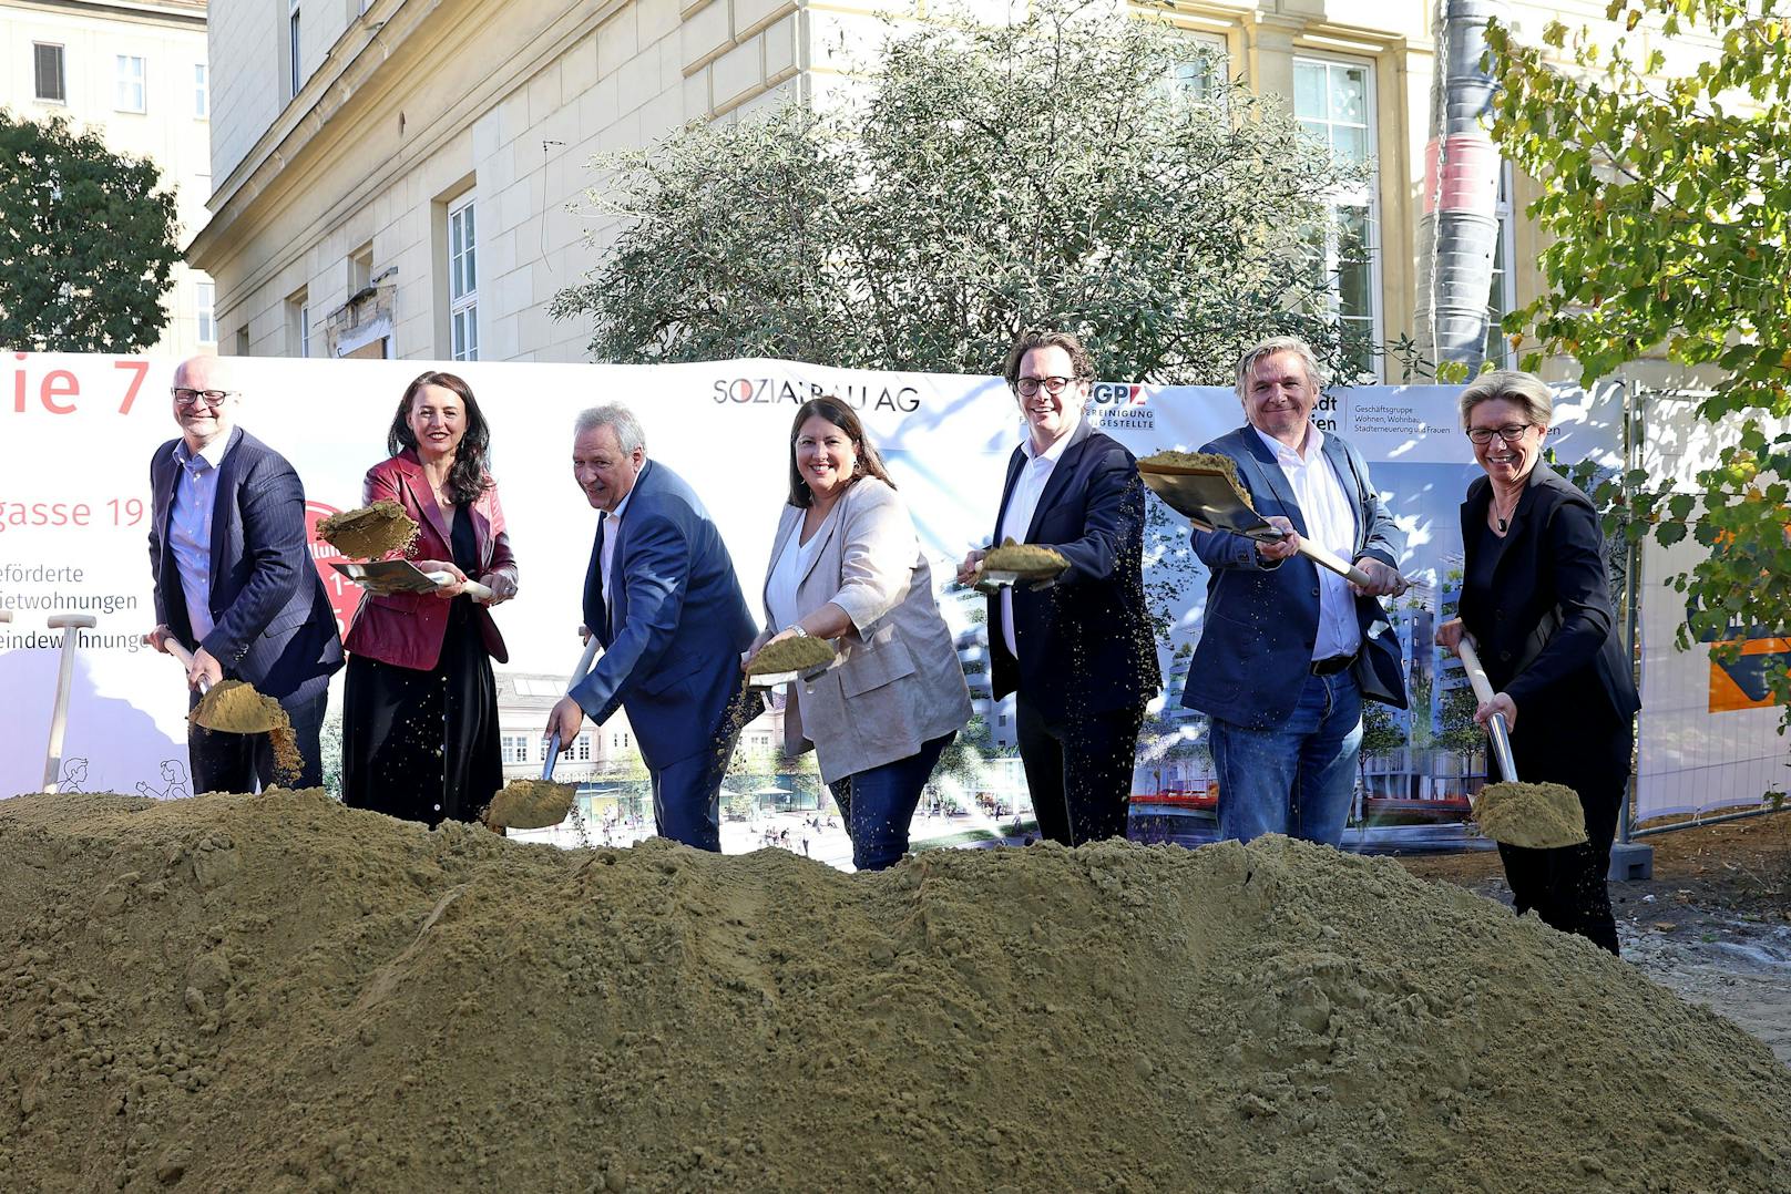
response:
<path fill-rule="evenodd" d="M 0 345 L 134 353 L 161 338 L 174 193 L 145 158 L 0 109 Z"/>

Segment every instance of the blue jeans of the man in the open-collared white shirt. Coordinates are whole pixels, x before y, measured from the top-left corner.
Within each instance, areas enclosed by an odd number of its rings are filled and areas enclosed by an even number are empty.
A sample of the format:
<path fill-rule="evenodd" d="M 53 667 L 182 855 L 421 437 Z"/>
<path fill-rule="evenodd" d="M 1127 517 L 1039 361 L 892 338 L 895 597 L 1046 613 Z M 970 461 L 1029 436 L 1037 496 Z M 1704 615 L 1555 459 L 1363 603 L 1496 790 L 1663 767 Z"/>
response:
<path fill-rule="evenodd" d="M 1306 677 L 1300 700 L 1273 730 L 1213 718 L 1220 838 L 1288 834 L 1338 845 L 1356 795 L 1361 689 L 1345 669 Z"/>

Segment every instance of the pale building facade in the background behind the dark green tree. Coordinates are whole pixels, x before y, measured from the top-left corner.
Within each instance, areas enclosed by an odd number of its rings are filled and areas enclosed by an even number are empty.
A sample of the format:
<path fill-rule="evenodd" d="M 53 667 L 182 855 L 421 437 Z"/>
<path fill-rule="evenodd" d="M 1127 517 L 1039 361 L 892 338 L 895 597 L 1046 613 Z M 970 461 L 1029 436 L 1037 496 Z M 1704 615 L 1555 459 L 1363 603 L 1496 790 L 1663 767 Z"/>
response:
<path fill-rule="evenodd" d="M 176 192 L 184 245 L 211 197 L 211 79 L 204 0 L 9 0 L 0 4 L 0 104 L 64 118 L 116 152 L 150 158 Z M 176 263 L 168 324 L 149 351 L 188 356 L 217 342 L 210 276 Z"/>

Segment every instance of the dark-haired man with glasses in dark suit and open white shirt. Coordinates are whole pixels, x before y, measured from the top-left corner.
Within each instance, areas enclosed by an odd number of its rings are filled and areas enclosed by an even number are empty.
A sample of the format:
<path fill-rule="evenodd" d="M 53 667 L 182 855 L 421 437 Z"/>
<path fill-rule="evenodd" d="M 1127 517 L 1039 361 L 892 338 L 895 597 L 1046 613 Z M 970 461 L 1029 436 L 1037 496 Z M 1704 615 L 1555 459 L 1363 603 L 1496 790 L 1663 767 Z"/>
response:
<path fill-rule="evenodd" d="M 1007 358 L 1024 435 L 1008 458 L 996 542 L 1050 546 L 1069 567 L 1042 591 L 989 598 L 990 682 L 1014 725 L 1039 832 L 1123 838 L 1157 643 L 1144 612 L 1144 483 L 1118 440 L 1089 426 L 1094 363 L 1067 331 L 1028 331 Z M 981 560 L 958 567 L 967 584 Z"/>

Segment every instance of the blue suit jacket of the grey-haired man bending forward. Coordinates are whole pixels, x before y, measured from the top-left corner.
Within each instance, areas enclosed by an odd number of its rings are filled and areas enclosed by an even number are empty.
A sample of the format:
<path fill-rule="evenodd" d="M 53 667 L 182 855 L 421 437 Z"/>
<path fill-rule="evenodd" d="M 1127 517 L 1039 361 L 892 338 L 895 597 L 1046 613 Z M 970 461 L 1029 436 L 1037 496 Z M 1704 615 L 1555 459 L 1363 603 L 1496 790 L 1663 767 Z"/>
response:
<path fill-rule="evenodd" d="M 743 711 L 740 653 L 756 628 L 722 533 L 677 473 L 648 460 L 623 510 L 616 609 L 604 607 L 604 525 L 584 575 L 584 625 L 604 644 L 571 691 L 604 723 L 618 705 L 652 770 L 716 745 Z"/>

